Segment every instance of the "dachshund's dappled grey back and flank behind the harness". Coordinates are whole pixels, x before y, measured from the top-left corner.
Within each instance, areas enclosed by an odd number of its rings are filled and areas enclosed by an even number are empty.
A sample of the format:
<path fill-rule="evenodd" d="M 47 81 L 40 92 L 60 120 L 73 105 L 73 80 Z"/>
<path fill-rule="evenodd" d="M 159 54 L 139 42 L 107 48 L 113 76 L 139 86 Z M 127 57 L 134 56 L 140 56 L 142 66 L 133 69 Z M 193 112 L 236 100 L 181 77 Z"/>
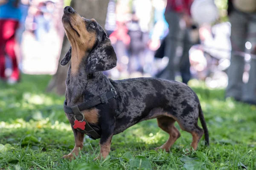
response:
<path fill-rule="evenodd" d="M 177 116 L 179 120 L 185 120 L 189 113 L 198 118 L 198 97 L 184 83 L 157 78 L 123 79 L 111 83 L 118 92 L 119 118 L 127 119 L 131 126 L 163 113 Z"/>

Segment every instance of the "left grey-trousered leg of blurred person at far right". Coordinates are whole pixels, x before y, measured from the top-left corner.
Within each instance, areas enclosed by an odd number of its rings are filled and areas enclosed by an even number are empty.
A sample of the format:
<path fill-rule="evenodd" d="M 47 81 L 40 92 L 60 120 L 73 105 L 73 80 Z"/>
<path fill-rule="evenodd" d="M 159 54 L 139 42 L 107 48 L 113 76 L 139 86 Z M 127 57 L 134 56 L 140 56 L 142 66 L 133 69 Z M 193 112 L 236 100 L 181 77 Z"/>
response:
<path fill-rule="evenodd" d="M 226 89 L 226 97 L 234 97 L 236 100 L 241 100 L 243 87 L 243 73 L 244 73 L 244 57 L 236 53 L 245 51 L 247 20 L 246 17 L 233 11 L 230 14 L 231 23 L 231 58 L 230 67 L 227 70 L 228 85 Z"/>

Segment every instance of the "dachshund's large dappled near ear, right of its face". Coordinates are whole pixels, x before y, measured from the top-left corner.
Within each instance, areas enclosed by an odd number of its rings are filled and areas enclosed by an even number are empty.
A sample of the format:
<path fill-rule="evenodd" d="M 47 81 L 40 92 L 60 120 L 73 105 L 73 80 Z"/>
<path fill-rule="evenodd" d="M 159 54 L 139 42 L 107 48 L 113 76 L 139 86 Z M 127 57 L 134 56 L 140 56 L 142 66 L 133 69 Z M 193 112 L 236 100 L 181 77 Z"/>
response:
<path fill-rule="evenodd" d="M 86 59 L 85 70 L 87 73 L 107 71 L 116 67 L 116 53 L 110 39 L 105 36 Z"/>

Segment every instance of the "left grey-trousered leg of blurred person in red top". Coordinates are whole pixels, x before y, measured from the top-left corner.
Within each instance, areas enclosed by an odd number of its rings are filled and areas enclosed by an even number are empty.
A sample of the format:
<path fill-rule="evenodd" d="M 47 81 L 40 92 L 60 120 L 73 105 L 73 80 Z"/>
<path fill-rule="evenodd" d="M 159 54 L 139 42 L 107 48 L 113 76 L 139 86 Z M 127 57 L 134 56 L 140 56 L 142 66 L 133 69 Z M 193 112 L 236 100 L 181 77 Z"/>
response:
<path fill-rule="evenodd" d="M 169 34 L 166 36 L 166 46 L 164 55 L 169 57 L 169 62 L 166 68 L 157 76 L 163 79 L 175 79 L 175 57 L 180 40 L 180 14 L 176 12 L 166 12 L 166 22 L 169 24 Z"/>

